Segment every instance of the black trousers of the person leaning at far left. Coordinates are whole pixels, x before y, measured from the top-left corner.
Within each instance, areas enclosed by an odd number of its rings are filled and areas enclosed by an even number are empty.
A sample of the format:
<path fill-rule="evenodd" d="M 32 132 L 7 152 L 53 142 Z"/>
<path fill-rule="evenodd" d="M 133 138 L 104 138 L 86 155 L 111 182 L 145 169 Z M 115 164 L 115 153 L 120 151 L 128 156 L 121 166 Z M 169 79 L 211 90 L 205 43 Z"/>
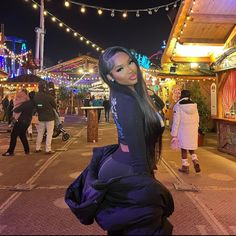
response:
<path fill-rule="evenodd" d="M 11 140 L 10 140 L 10 145 L 7 152 L 14 153 L 18 136 L 20 137 L 20 140 L 23 144 L 25 153 L 29 152 L 29 143 L 26 137 L 26 131 L 28 127 L 29 127 L 29 124 L 21 122 L 21 121 L 16 122 L 14 124 L 13 129 L 11 131 Z"/>

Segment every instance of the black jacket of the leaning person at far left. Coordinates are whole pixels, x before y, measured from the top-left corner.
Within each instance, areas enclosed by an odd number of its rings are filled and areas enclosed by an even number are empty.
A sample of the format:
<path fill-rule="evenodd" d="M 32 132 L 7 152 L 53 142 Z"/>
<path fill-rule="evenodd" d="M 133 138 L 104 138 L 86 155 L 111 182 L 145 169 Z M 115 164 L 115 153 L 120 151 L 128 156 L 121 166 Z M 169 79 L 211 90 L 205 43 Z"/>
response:
<path fill-rule="evenodd" d="M 18 121 L 30 124 L 32 115 L 35 111 L 35 106 L 32 100 L 23 102 L 19 107 L 14 109 L 14 112 L 21 112 Z"/>

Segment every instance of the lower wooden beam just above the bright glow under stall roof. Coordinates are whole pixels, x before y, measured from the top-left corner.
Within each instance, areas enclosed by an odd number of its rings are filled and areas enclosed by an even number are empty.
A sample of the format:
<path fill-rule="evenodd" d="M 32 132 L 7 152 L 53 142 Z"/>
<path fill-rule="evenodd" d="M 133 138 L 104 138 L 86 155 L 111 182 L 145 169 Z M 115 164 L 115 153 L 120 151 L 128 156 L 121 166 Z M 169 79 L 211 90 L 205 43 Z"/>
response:
<path fill-rule="evenodd" d="M 225 40 L 214 38 L 181 38 L 180 43 L 183 45 L 224 46 Z"/>

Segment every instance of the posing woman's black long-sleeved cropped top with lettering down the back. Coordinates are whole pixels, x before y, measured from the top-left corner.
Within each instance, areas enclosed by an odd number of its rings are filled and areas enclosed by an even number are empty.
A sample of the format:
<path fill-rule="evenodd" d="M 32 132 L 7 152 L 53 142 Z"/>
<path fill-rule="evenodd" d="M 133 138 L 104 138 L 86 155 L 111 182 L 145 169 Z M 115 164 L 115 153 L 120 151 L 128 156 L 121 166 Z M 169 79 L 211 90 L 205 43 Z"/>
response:
<path fill-rule="evenodd" d="M 111 111 L 117 127 L 118 142 L 129 147 L 129 153 L 119 150 L 119 155 L 114 153 L 115 159 L 131 165 L 135 173 L 150 172 L 146 155 L 144 115 L 138 102 L 132 95 L 112 91 Z"/>

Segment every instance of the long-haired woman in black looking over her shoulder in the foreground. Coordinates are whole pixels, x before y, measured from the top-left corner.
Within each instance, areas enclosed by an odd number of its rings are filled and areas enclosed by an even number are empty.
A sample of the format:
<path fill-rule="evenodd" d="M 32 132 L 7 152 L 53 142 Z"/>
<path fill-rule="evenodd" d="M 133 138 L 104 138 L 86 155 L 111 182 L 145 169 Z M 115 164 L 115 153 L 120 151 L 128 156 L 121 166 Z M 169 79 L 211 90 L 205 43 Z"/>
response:
<path fill-rule="evenodd" d="M 82 223 L 96 219 L 108 235 L 169 235 L 173 199 L 154 177 L 163 121 L 138 62 L 128 49 L 110 47 L 100 56 L 99 71 L 110 87 L 118 144 L 94 148 L 66 202 Z"/>

